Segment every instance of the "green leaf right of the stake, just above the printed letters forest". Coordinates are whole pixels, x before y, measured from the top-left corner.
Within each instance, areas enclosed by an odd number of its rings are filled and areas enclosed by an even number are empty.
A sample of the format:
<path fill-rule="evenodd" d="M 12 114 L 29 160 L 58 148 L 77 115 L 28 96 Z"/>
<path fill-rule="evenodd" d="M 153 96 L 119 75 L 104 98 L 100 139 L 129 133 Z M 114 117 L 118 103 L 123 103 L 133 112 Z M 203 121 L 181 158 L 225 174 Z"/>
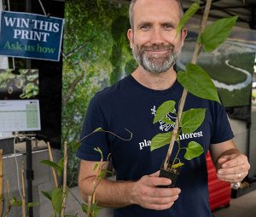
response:
<path fill-rule="evenodd" d="M 206 109 L 189 109 L 183 111 L 181 117 L 181 127 L 184 134 L 193 133 L 201 126 L 206 116 Z"/>

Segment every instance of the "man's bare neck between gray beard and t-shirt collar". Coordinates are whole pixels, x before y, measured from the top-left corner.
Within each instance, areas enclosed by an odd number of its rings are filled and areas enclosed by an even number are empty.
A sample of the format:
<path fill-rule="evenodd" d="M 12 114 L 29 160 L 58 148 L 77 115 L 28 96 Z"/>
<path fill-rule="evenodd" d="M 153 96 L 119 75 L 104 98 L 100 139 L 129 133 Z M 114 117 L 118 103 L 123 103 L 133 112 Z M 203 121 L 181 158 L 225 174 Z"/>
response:
<path fill-rule="evenodd" d="M 177 74 L 173 68 L 166 72 L 160 74 L 153 74 L 145 71 L 142 67 L 138 67 L 135 71 L 131 73 L 138 83 L 141 83 L 144 87 L 148 89 L 164 90 L 172 87 L 175 83 Z"/>

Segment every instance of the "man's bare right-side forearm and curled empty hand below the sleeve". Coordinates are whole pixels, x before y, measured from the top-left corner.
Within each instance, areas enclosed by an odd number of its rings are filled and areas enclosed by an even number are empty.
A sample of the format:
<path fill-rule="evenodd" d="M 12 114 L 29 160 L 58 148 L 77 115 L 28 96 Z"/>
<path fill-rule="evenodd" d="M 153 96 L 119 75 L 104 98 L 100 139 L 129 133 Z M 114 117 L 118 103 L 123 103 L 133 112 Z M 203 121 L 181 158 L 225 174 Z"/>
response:
<path fill-rule="evenodd" d="M 217 168 L 218 179 L 238 182 L 247 176 L 250 164 L 232 140 L 212 144 L 210 153 L 212 162 Z"/>

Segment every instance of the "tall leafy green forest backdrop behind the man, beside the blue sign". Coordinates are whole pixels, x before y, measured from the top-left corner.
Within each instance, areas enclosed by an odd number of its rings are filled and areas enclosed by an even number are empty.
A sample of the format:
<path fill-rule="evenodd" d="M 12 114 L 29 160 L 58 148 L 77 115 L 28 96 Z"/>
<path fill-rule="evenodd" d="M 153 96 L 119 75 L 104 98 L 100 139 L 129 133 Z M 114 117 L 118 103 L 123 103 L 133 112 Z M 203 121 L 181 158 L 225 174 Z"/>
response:
<path fill-rule="evenodd" d="M 132 68 L 125 36 L 127 9 L 128 5 L 114 1 L 65 1 L 61 140 L 72 145 L 68 150 L 68 186 L 77 185 L 79 161 L 75 152 L 90 99 L 125 76 L 126 63 Z"/>

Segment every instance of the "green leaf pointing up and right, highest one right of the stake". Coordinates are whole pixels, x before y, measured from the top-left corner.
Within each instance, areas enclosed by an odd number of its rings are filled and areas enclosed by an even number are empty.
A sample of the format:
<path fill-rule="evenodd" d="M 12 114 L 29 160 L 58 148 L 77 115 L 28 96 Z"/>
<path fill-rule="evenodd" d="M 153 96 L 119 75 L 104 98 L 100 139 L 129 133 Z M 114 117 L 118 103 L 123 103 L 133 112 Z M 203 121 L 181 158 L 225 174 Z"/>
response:
<path fill-rule="evenodd" d="M 218 48 L 224 40 L 230 36 L 233 26 L 236 24 L 238 16 L 217 20 L 201 34 L 199 43 L 205 46 L 207 52 Z"/>

